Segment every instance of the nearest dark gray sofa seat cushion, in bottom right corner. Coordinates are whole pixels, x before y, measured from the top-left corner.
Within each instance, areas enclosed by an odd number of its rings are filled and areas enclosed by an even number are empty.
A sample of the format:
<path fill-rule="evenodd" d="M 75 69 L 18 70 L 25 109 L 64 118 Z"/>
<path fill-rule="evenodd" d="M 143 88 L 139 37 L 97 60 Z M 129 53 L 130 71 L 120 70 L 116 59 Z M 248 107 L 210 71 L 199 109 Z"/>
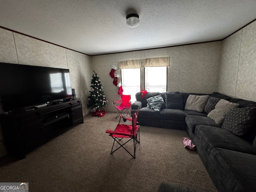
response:
<path fill-rule="evenodd" d="M 256 191 L 256 156 L 214 148 L 208 173 L 218 191 Z"/>

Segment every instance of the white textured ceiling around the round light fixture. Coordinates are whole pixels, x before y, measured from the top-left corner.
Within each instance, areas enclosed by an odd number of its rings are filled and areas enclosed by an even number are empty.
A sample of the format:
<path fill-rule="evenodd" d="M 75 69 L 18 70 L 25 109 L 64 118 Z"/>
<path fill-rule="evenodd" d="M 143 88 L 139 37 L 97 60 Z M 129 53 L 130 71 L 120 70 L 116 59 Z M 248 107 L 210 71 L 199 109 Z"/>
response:
<path fill-rule="evenodd" d="M 0 0 L 0 26 L 97 55 L 221 40 L 255 10 L 256 0 Z"/>

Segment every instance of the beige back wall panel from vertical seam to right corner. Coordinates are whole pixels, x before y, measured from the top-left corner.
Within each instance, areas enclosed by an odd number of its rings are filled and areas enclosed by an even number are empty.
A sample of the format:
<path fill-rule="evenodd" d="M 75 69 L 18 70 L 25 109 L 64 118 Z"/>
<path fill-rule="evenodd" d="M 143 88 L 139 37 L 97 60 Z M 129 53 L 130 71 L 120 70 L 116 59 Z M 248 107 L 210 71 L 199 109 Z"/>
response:
<path fill-rule="evenodd" d="M 181 46 L 180 92 L 212 93 L 217 89 L 221 42 Z"/>

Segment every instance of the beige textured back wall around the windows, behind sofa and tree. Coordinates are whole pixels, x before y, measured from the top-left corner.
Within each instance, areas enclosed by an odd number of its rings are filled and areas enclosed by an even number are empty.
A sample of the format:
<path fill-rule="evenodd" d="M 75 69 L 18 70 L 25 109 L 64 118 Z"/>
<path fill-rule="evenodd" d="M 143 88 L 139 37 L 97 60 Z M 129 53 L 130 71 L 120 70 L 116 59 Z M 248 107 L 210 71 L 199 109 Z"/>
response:
<path fill-rule="evenodd" d="M 118 61 L 170 56 L 167 71 L 167 91 L 212 93 L 216 91 L 220 64 L 221 42 L 211 42 L 170 48 L 150 49 L 92 56 L 92 69 L 98 73 L 108 101 L 119 100 L 109 72 Z M 121 75 L 121 70 L 116 70 Z M 116 111 L 111 102 L 108 111 Z"/>

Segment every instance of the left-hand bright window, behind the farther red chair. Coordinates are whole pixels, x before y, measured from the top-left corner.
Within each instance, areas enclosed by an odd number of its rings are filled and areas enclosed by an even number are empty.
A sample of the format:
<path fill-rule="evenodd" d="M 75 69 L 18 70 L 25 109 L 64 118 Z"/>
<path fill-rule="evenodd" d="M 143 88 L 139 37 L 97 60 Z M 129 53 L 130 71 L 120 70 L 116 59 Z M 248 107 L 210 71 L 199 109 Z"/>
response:
<path fill-rule="evenodd" d="M 140 68 L 122 69 L 122 88 L 124 95 L 131 95 L 131 101 L 136 101 L 135 94 L 140 92 Z"/>

